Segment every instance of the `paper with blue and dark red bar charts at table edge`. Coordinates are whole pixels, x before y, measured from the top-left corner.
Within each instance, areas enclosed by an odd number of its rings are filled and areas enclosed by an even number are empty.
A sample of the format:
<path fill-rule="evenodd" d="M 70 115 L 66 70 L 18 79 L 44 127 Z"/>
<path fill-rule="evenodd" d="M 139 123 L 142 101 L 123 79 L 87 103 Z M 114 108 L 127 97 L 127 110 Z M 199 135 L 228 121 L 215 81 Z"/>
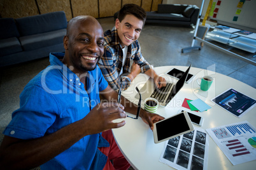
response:
<path fill-rule="evenodd" d="M 233 165 L 256 160 L 256 129 L 248 121 L 206 131 Z"/>

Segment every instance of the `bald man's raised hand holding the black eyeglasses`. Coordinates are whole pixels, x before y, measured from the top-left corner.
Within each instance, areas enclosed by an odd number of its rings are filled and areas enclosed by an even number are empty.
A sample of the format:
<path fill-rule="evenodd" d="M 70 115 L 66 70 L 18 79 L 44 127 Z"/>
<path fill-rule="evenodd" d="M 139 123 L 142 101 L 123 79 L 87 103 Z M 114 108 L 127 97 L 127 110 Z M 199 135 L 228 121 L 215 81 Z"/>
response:
<path fill-rule="evenodd" d="M 96 134 L 112 128 L 120 128 L 125 121 L 113 122 L 115 119 L 126 118 L 124 106 L 115 102 L 103 102 L 96 105 L 83 119 L 87 134 Z"/>

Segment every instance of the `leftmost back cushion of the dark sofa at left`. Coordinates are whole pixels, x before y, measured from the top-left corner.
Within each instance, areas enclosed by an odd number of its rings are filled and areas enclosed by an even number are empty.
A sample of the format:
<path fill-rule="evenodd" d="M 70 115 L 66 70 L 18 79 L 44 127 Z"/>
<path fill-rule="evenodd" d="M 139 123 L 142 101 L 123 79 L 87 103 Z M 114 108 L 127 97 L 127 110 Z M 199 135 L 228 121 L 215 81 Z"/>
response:
<path fill-rule="evenodd" d="M 0 25 L 0 39 L 20 36 L 13 18 L 0 18 Z"/>

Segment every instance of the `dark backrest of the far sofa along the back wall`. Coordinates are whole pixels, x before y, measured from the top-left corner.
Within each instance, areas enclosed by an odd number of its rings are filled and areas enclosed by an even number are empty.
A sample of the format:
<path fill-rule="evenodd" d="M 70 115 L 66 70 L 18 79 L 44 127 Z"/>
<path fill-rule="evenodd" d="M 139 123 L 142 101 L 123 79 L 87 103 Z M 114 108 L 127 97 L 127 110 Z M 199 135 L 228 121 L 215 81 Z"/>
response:
<path fill-rule="evenodd" d="M 188 5 L 182 4 L 158 4 L 157 13 L 178 13 L 181 14 Z"/>

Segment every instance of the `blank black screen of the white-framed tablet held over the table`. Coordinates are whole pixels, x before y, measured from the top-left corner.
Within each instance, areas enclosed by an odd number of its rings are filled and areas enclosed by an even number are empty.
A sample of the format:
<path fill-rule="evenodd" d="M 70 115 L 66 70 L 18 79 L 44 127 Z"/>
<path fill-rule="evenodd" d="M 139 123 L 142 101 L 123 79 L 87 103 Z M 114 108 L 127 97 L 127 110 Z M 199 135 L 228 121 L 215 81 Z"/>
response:
<path fill-rule="evenodd" d="M 190 130 L 184 114 L 178 114 L 171 117 L 171 119 L 158 122 L 156 126 L 159 141 Z"/>

